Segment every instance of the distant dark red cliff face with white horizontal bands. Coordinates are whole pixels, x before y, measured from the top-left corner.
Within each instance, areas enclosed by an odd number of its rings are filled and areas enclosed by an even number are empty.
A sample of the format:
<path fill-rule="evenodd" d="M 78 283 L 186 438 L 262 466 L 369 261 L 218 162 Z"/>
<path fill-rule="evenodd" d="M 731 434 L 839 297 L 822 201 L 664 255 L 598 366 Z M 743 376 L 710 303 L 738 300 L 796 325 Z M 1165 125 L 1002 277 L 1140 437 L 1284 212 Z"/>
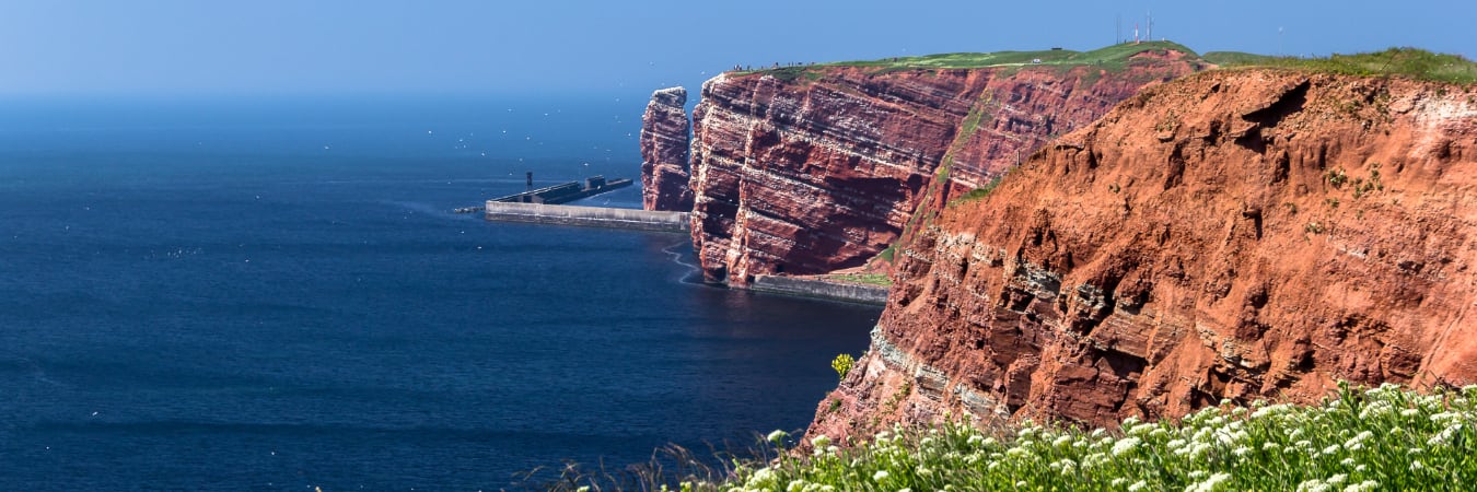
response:
<path fill-rule="evenodd" d="M 1114 71 L 826 66 L 709 80 L 691 180 L 703 275 L 746 285 L 858 266 L 898 238 L 925 197 L 941 205 L 1145 84 L 1195 68 L 1170 52 Z"/>

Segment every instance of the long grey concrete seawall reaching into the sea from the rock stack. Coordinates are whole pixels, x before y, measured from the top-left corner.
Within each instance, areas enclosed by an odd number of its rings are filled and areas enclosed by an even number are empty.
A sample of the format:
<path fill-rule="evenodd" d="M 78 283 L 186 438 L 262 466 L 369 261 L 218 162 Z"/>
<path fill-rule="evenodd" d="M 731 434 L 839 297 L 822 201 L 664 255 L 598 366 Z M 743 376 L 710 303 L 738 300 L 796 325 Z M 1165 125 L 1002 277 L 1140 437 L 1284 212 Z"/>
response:
<path fill-rule="evenodd" d="M 687 232 L 691 228 L 691 222 L 688 220 L 688 214 L 685 211 L 514 204 L 498 201 L 487 202 L 486 217 L 487 220 L 663 232 Z"/>

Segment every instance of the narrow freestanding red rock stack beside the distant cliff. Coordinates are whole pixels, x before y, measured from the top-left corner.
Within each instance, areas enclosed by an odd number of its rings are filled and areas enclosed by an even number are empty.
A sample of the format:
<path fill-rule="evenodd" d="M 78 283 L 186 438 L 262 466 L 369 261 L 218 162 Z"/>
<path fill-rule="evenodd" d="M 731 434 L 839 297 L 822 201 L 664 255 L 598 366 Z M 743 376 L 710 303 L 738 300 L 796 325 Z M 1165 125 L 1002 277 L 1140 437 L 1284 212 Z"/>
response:
<path fill-rule="evenodd" d="M 641 205 L 645 210 L 693 210 L 687 120 L 687 89 L 651 93 L 641 115 Z"/>

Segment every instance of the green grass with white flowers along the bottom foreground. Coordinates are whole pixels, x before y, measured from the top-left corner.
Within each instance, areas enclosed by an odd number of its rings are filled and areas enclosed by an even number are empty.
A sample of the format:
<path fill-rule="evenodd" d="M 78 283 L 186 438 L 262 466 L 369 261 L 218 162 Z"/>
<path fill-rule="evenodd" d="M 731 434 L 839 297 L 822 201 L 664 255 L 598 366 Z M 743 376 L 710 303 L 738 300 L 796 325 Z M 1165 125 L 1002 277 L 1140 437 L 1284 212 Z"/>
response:
<path fill-rule="evenodd" d="M 668 479 L 682 491 L 1449 491 L 1477 483 L 1474 402 L 1477 386 L 1421 394 L 1341 384 L 1313 406 L 1223 402 L 1115 431 L 894 427 L 845 449 L 815 437 L 809 455 L 786 454 L 775 431 L 775 458 Z"/>

